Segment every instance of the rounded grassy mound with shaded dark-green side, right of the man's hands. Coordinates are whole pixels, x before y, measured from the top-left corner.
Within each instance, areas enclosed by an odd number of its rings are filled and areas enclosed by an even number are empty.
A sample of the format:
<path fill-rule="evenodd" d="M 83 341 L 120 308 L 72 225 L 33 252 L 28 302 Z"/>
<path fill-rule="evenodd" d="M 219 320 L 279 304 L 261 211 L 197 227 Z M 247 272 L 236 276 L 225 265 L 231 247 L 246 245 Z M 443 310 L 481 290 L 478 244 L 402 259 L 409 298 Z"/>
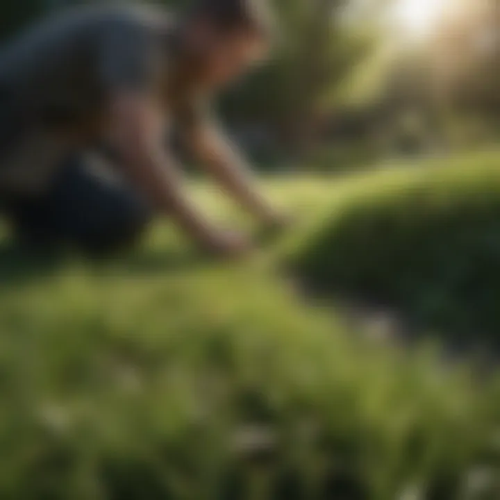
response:
<path fill-rule="evenodd" d="M 500 347 L 500 155 L 355 181 L 295 264 L 318 290 L 392 306 L 459 344 Z"/>

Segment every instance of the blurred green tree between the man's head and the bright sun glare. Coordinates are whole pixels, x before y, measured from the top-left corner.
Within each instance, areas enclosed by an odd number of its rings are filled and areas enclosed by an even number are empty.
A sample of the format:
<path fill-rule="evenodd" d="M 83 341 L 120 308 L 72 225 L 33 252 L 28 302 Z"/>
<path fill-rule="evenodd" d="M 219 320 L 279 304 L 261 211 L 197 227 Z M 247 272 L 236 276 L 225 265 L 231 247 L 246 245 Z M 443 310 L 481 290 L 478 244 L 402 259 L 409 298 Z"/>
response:
<path fill-rule="evenodd" d="M 287 147 L 315 140 L 331 97 L 372 47 L 344 17 L 349 0 L 278 0 L 278 47 L 267 67 L 229 100 L 233 116 L 270 124 Z"/>

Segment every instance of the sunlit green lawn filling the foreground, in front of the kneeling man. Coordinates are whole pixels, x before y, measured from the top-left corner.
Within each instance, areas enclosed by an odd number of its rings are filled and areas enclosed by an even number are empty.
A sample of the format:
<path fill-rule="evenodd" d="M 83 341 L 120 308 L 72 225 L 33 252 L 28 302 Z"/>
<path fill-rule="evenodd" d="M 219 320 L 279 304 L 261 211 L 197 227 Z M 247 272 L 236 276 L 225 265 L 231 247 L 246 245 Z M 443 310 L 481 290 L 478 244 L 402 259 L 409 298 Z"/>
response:
<path fill-rule="evenodd" d="M 363 339 L 283 276 L 358 182 L 267 181 L 299 221 L 244 263 L 203 260 L 168 225 L 110 263 L 4 240 L 0 498 L 498 498 L 497 383 Z M 492 496 L 471 496 L 476 476 Z"/>

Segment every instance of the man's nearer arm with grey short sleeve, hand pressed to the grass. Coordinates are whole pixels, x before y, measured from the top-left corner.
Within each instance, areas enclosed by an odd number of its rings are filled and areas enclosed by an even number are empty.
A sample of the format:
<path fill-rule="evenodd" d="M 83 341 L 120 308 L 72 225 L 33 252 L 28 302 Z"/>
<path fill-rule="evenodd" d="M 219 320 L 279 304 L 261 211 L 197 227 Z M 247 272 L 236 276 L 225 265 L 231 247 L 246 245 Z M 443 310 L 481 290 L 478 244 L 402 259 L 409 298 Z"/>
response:
<path fill-rule="evenodd" d="M 174 159 L 165 151 L 164 110 L 158 96 L 165 80 L 165 51 L 149 28 L 124 24 L 100 40 L 99 77 L 107 94 L 106 139 L 122 161 L 124 174 L 159 213 L 210 251 L 240 253 L 246 243 L 218 231 L 194 208 Z"/>

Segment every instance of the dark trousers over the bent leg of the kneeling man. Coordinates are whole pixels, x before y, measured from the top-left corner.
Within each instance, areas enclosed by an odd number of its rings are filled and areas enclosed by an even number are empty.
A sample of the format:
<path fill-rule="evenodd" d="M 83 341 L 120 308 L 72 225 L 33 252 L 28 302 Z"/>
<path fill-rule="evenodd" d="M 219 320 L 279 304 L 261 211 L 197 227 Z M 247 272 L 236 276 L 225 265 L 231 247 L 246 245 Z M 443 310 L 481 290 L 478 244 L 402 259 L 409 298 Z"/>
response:
<path fill-rule="evenodd" d="M 147 203 L 90 158 L 82 154 L 65 161 L 44 194 L 0 194 L 0 210 L 20 238 L 31 244 L 69 244 L 90 253 L 116 251 L 138 240 L 151 220 Z"/>

